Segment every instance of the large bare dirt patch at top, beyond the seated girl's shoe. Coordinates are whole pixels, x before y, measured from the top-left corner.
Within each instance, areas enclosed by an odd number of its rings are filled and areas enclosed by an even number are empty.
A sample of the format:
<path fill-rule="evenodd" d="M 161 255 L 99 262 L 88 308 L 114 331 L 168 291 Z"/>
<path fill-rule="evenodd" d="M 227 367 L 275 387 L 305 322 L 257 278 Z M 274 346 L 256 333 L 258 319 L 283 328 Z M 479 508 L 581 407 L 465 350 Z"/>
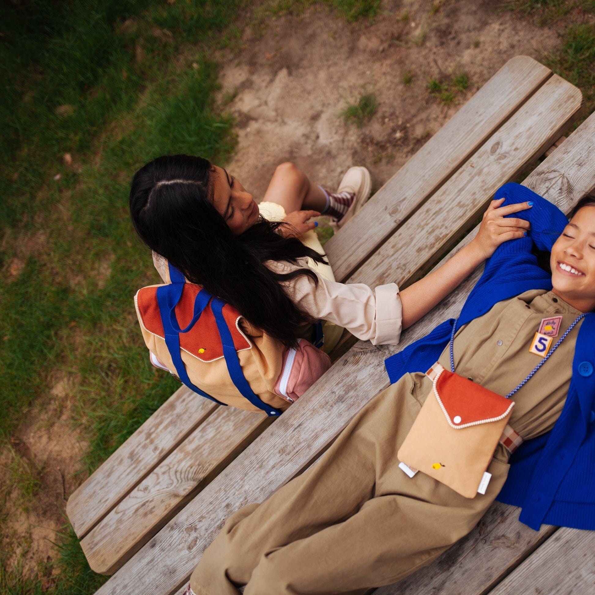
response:
<path fill-rule="evenodd" d="M 557 45 L 555 29 L 501 5 L 385 1 L 371 24 L 314 8 L 274 18 L 262 37 L 248 27 L 241 54 L 222 57 L 221 97 L 236 93 L 228 109 L 239 122 L 228 170 L 258 199 L 287 160 L 330 189 L 351 165 L 365 165 L 379 188 L 509 58 L 538 58 Z M 407 71 L 411 84 L 403 82 Z M 470 84 L 452 105 L 426 89 L 430 79 L 462 71 Z M 378 110 L 357 129 L 340 112 L 364 92 L 375 93 Z"/>

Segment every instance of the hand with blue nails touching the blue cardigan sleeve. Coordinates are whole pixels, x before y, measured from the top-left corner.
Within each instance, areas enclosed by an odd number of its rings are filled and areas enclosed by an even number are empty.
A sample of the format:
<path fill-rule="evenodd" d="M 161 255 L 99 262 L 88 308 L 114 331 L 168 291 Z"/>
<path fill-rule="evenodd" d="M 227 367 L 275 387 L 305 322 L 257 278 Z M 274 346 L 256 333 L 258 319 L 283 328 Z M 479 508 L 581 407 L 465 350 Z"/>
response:
<path fill-rule="evenodd" d="M 505 215 L 525 211 L 533 206 L 532 202 L 520 202 L 516 205 L 500 206 L 504 198 L 491 201 L 483 215 L 480 230 L 472 240 L 472 245 L 484 256 L 484 259 L 496 251 L 500 244 L 517 237 L 524 237 L 531 228 L 531 224 L 516 217 L 505 218 Z"/>

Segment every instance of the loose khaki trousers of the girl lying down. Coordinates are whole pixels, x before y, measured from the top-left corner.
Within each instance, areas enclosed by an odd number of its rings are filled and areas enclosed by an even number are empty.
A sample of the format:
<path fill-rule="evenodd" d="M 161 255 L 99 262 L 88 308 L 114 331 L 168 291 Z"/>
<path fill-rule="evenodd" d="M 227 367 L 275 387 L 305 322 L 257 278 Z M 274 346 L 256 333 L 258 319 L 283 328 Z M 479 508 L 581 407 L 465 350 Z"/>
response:
<path fill-rule="evenodd" d="M 499 446 L 485 495 L 466 499 L 396 458 L 431 382 L 407 374 L 314 466 L 227 519 L 190 584 L 197 595 L 362 593 L 431 563 L 480 520 L 506 480 Z"/>

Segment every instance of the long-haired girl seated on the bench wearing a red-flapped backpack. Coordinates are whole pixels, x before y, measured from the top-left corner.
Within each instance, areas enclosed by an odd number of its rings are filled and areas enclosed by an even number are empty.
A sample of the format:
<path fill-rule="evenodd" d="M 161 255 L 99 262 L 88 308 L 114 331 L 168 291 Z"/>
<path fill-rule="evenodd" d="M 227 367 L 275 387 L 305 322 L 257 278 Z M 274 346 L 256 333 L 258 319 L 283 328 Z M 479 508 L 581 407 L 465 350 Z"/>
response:
<path fill-rule="evenodd" d="M 402 292 L 394 283 L 373 290 L 336 283 L 308 220 L 323 212 L 342 224 L 370 191 L 363 167 L 350 168 L 330 193 L 283 164 L 258 206 L 237 179 L 200 157 L 164 156 L 141 168 L 131 217 L 165 283 L 134 299 L 154 365 L 222 405 L 280 415 L 330 367 L 318 349 L 321 320 L 327 351 L 343 328 L 396 345 L 402 328 L 529 228 L 504 218 L 527 204 L 494 203 L 474 242 Z"/>

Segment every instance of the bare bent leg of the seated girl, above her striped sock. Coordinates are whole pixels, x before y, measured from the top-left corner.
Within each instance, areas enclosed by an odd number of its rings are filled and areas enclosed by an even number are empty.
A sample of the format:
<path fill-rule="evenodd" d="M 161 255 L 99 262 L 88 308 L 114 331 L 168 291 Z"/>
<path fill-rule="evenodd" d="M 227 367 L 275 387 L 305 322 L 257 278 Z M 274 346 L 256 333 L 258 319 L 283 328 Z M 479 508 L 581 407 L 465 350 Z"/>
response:
<path fill-rule="evenodd" d="M 262 200 L 276 202 L 287 214 L 309 209 L 322 212 L 327 204 L 324 192 L 289 161 L 277 166 Z"/>

